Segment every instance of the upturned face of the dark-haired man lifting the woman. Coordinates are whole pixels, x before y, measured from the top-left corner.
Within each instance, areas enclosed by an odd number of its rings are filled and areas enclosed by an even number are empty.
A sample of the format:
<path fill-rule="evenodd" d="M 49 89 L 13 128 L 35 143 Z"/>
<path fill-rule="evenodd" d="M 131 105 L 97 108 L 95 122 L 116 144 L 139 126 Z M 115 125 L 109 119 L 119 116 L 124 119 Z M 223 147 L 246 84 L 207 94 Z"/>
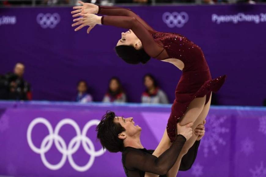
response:
<path fill-rule="evenodd" d="M 126 129 L 126 131 L 123 132 L 126 136 L 133 137 L 140 135 L 141 127 L 139 127 L 139 125 L 135 125 L 133 117 L 115 117 L 114 122 L 120 123 L 121 126 Z"/>

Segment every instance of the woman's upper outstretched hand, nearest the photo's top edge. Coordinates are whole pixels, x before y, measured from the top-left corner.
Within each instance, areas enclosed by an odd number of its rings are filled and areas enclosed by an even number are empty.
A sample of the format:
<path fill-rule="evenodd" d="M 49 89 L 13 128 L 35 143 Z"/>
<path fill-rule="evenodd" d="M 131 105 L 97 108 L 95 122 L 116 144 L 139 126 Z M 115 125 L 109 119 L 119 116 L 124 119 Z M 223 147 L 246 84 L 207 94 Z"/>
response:
<path fill-rule="evenodd" d="M 73 10 L 71 13 L 76 13 L 75 15 L 73 15 L 73 17 L 77 17 L 80 16 L 80 14 L 87 14 L 87 13 L 91 13 L 91 14 L 95 14 L 98 13 L 99 7 L 98 5 L 95 4 L 91 4 L 91 3 L 84 3 L 79 1 L 79 3 L 82 6 L 75 6 L 73 7 L 73 9 L 77 9 L 77 10 Z"/>

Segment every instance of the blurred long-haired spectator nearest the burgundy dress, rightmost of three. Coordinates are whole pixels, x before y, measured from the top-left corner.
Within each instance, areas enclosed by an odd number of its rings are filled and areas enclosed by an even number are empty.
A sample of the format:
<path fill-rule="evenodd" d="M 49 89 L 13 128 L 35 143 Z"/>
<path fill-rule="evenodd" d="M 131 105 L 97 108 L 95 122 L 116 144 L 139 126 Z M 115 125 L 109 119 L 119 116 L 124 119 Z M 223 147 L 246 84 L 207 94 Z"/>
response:
<path fill-rule="evenodd" d="M 169 103 L 166 94 L 158 87 L 157 81 L 151 74 L 144 76 L 144 85 L 146 91 L 142 93 L 142 103 Z"/>

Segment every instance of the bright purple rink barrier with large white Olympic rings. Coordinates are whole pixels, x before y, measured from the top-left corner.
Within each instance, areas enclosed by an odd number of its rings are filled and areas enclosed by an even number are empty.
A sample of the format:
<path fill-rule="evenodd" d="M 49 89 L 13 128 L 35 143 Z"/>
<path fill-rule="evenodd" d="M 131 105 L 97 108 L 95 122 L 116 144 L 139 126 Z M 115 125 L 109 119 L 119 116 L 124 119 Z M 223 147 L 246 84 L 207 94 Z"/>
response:
<path fill-rule="evenodd" d="M 171 105 L 0 102 L 0 175 L 125 176 L 121 153 L 101 150 L 95 125 L 113 110 L 134 117 L 147 149 L 158 145 Z M 179 177 L 264 177 L 266 109 L 211 107 L 192 168 Z"/>

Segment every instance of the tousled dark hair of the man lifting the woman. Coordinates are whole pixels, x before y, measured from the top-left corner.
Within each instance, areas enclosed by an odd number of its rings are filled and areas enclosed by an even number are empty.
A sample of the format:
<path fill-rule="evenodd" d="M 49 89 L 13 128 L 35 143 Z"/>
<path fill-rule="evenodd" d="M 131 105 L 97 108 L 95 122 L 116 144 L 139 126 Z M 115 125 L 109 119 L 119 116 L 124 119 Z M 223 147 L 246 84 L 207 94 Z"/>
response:
<path fill-rule="evenodd" d="M 103 149 L 109 152 L 122 152 L 124 148 L 123 139 L 118 138 L 119 133 L 126 131 L 120 123 L 115 123 L 115 113 L 107 111 L 96 127 L 97 138 L 100 139 Z"/>

